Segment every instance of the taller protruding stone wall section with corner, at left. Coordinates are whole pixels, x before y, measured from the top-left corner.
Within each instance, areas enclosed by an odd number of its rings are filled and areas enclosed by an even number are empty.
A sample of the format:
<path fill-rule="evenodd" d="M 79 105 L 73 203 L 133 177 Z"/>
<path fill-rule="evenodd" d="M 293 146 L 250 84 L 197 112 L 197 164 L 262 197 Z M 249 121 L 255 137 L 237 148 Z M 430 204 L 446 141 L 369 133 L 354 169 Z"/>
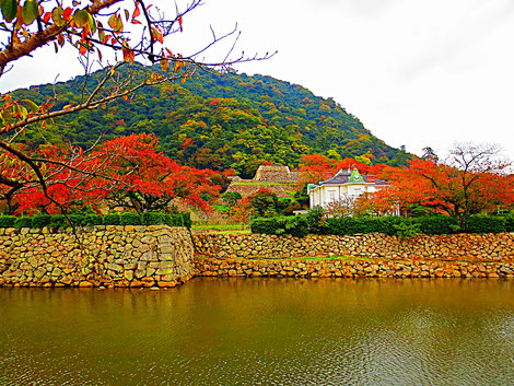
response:
<path fill-rule="evenodd" d="M 0 286 L 175 286 L 192 254 L 185 227 L 0 229 Z"/>

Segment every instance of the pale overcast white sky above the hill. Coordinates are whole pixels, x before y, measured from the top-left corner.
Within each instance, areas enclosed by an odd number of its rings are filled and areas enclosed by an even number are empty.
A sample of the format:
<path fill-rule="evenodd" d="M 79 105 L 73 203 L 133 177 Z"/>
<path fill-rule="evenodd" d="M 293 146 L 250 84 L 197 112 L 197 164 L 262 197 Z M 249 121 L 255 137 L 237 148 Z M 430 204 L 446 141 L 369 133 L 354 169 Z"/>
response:
<path fill-rule="evenodd" d="M 472 141 L 499 143 L 514 159 L 513 0 L 206 0 L 172 45 L 187 54 L 208 40 L 209 25 L 221 34 L 236 22 L 237 52 L 279 51 L 240 72 L 331 96 L 376 137 L 417 154 Z M 58 73 L 63 81 L 80 67 L 42 52 L 2 77 L 0 90 Z"/>

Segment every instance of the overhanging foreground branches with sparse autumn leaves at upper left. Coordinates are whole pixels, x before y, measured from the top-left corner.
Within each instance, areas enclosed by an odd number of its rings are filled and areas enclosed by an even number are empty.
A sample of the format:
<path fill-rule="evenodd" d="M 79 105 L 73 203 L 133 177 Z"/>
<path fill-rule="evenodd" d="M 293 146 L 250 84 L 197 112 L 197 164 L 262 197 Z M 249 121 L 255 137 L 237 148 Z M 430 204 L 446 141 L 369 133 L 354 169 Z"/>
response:
<path fill-rule="evenodd" d="M 226 71 L 235 63 L 272 56 L 233 57 L 238 38 L 236 28 L 223 35 L 215 35 L 213 32 L 211 40 L 192 55 L 175 52 L 170 37 L 184 31 L 184 20 L 201 4 L 201 0 L 192 0 L 182 10 L 176 5 L 176 12 L 170 16 L 168 12 L 147 4 L 143 0 L 92 0 L 86 4 L 77 0 L 0 0 L 0 79 L 15 66 L 17 59 L 32 56 L 35 50 L 49 44 L 54 45 L 56 58 L 65 46 L 77 49 L 85 73 L 80 84 L 80 101 L 73 104 L 62 106 L 58 94 L 38 104 L 32 100 L 16 100 L 10 94 L 2 95 L 0 162 L 16 164 L 17 169 L 16 173 L 11 173 L 11 168 L 0 171 L 0 189 L 9 211 L 14 210 L 10 201 L 15 194 L 30 191 L 36 185 L 40 187 L 46 200 L 51 201 L 49 180 L 59 173 L 66 173 L 63 169 L 70 174 L 79 174 L 80 176 L 66 177 L 67 184 L 73 180 L 77 187 L 80 185 L 82 188 L 87 185 L 87 176 L 94 177 L 100 171 L 106 172 L 103 166 L 100 169 L 87 168 L 90 165 L 83 160 L 77 163 L 77 159 L 71 155 L 77 152 L 73 147 L 62 157 L 59 152 L 40 153 L 39 149 L 31 149 L 30 144 L 23 145 L 22 137 L 27 128 L 45 132 L 49 127 L 57 127 L 58 131 L 59 124 L 55 120 L 58 117 L 105 108 L 115 100 L 127 100 L 143 86 L 177 80 L 184 82 L 199 70 Z M 230 38 L 233 39 L 232 48 L 222 59 L 203 59 L 207 50 Z M 97 58 L 94 59 L 95 57 Z M 114 57 L 114 60 L 106 60 L 105 57 Z M 159 62 L 161 71 L 147 70 L 144 77 L 119 71 L 120 67 L 133 63 L 137 59 L 147 63 Z M 93 67 L 101 69 L 95 75 L 92 74 Z M 84 151 L 83 149 L 79 153 L 84 160 L 89 160 L 90 155 Z M 52 167 L 48 168 L 49 165 L 61 169 L 54 171 Z M 77 178 L 81 180 L 80 184 L 77 184 Z M 68 187 L 72 189 L 73 184 L 68 184 Z M 54 203 L 59 204 L 58 201 Z"/>

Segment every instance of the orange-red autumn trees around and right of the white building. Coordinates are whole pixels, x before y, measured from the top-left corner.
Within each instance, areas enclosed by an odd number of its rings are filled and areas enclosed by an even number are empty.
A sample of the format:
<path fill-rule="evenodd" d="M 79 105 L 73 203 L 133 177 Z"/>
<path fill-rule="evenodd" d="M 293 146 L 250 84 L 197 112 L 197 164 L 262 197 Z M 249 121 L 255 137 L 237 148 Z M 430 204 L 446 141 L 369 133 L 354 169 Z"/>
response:
<path fill-rule="evenodd" d="M 311 154 L 302 157 L 300 169 L 303 182 L 317 183 L 353 165 L 362 174 L 376 175 L 390 184 L 353 202 L 354 214 L 384 215 L 399 209 L 404 215 L 449 215 L 465 226 L 472 214 L 512 210 L 514 206 L 511 163 L 499 159 L 498 150 L 487 144 L 456 144 L 445 162 L 436 157 L 413 160 L 404 168 Z"/>

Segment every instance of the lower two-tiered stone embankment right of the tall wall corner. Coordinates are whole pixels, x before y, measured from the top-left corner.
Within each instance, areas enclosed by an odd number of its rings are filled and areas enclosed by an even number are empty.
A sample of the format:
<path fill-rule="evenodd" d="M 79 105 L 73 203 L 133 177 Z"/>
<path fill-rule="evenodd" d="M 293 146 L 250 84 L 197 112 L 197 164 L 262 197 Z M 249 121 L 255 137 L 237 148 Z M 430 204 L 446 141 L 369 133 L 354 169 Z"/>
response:
<path fill-rule="evenodd" d="M 514 233 L 195 235 L 196 276 L 292 278 L 512 278 Z"/>

